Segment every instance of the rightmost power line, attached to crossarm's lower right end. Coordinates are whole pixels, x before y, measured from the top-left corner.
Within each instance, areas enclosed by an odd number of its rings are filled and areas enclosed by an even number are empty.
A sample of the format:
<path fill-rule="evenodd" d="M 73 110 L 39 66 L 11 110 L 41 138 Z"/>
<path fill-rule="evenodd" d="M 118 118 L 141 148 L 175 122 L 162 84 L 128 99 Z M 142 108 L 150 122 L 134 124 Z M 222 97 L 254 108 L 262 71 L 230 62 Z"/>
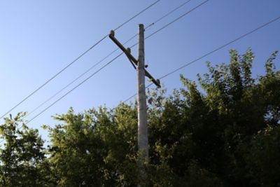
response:
<path fill-rule="evenodd" d="M 191 61 L 191 62 L 188 62 L 188 63 L 184 64 L 183 66 L 181 66 L 181 67 L 179 67 L 179 68 L 177 68 L 177 69 L 174 69 L 173 71 L 170 71 L 169 73 L 165 74 L 164 76 L 161 76 L 159 79 L 161 80 L 162 78 L 166 78 L 167 76 L 170 76 L 171 74 L 174 74 L 176 71 L 179 71 L 179 70 L 181 70 L 181 69 L 183 69 L 183 68 L 185 68 L 185 67 L 188 67 L 190 64 L 193 64 L 193 63 L 195 63 L 195 62 L 197 62 L 197 61 L 199 61 L 199 60 L 202 60 L 202 58 L 207 57 L 207 56 L 209 56 L 209 55 L 215 53 L 216 51 L 221 50 L 222 48 L 225 48 L 226 46 L 229 46 L 230 44 L 235 43 L 236 41 L 239 41 L 240 39 L 243 39 L 244 37 L 248 36 L 249 34 L 252 34 L 252 33 L 254 33 L 254 32 L 257 32 L 259 29 L 262 29 L 263 27 L 266 27 L 267 25 L 272 24 L 273 22 L 276 22 L 276 21 L 279 20 L 279 19 L 280 19 L 280 16 L 277 17 L 277 18 L 274 18 L 273 20 L 270 20 L 269 22 L 266 22 L 266 23 L 263 24 L 263 25 L 260 25 L 259 27 L 257 27 L 257 28 L 255 28 L 255 29 L 251 30 L 250 32 L 247 32 L 246 34 L 243 34 L 243 35 L 237 37 L 236 39 L 233 39 L 232 41 L 229 41 L 228 43 L 225 43 L 223 46 L 220 46 L 220 47 L 218 47 L 218 48 L 216 48 L 216 49 L 214 49 L 214 50 L 211 50 L 209 53 L 206 53 L 206 54 L 202 55 L 201 57 L 198 57 L 198 58 L 195 59 L 195 60 L 193 60 L 193 61 Z M 152 83 L 151 83 L 150 85 L 147 85 L 146 88 L 150 87 L 151 85 L 152 85 Z M 137 94 L 134 94 L 134 95 L 132 95 L 131 97 L 128 97 L 127 99 L 125 99 L 124 102 L 128 102 L 130 99 L 132 99 L 132 98 L 135 97 L 136 95 L 137 95 Z"/>

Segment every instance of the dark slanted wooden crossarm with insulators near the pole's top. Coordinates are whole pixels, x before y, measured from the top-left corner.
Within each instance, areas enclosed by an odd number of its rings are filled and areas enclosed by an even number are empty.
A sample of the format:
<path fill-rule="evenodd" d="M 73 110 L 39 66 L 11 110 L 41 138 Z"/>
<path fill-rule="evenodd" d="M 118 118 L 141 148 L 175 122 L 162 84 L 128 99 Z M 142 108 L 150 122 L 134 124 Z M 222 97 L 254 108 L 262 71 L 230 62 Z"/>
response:
<path fill-rule="evenodd" d="M 116 38 L 115 38 L 115 32 L 111 30 L 109 34 L 109 38 L 116 43 L 116 45 L 120 48 L 120 50 L 123 50 L 123 53 L 127 55 L 127 58 L 130 60 L 132 63 L 133 67 L 136 69 L 136 66 L 138 65 L 138 61 L 131 55 L 130 50 L 127 50 Z M 129 49 L 129 48 L 128 48 Z M 148 71 L 145 69 L 145 76 L 147 76 L 158 88 L 160 88 L 160 80 L 153 78 L 151 74 L 149 74 Z"/>

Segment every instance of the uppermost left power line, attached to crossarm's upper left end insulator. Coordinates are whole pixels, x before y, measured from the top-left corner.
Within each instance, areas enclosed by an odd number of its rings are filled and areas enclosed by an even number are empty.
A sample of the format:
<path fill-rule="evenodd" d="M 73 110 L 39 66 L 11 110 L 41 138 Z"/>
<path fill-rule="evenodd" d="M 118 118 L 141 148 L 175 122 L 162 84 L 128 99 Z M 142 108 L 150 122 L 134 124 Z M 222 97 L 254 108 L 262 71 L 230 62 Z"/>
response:
<path fill-rule="evenodd" d="M 140 11 L 139 13 L 137 13 L 136 15 L 134 15 L 132 18 L 130 18 L 129 20 L 123 22 L 121 25 L 119 25 L 118 27 L 116 27 L 116 29 L 114 29 L 115 31 L 117 29 L 120 29 L 120 27 L 123 27 L 125 24 L 127 24 L 128 22 L 130 22 L 131 20 L 133 20 L 134 18 L 136 18 L 138 15 L 140 15 L 141 13 L 144 13 L 146 10 L 148 10 L 149 8 L 151 8 L 152 6 L 154 6 L 155 4 L 158 4 L 158 2 L 160 2 L 160 0 L 155 1 L 153 4 L 151 4 L 150 6 L 144 8 L 142 11 Z M 45 83 L 43 83 L 42 85 L 40 85 L 38 88 L 36 88 L 36 90 L 34 90 L 33 92 L 31 92 L 31 94 L 27 95 L 27 97 L 25 97 L 24 99 L 22 99 L 21 102 L 19 102 L 18 104 L 16 104 L 15 106 L 13 106 L 11 109 L 9 109 L 6 113 L 4 113 L 1 117 L 3 118 L 4 116 L 6 116 L 8 113 L 10 113 L 10 111 L 13 111 L 13 109 L 15 109 L 16 107 L 18 107 L 20 104 L 22 104 L 23 102 L 25 102 L 27 99 L 29 99 L 29 97 L 31 97 L 32 95 L 34 95 L 36 92 L 38 92 L 38 90 L 41 90 L 41 88 L 43 88 L 45 85 L 47 85 L 48 83 L 50 83 L 50 81 L 52 81 L 54 78 L 56 78 L 59 74 L 61 74 L 63 71 L 65 71 L 67 68 L 69 68 L 72 64 L 74 64 L 75 62 L 77 62 L 81 57 L 83 57 L 86 53 L 88 53 L 90 50 L 92 50 L 92 48 L 94 48 L 95 46 L 97 46 L 99 43 L 101 43 L 102 41 L 104 41 L 104 39 L 106 39 L 106 37 L 108 36 L 108 34 L 106 34 L 106 36 L 103 36 L 102 39 L 100 39 L 99 41 L 97 41 L 97 43 L 94 43 L 93 46 L 91 46 L 89 49 L 85 50 L 84 53 L 82 53 L 81 55 L 79 55 L 75 60 L 73 60 L 72 62 L 70 62 L 68 65 L 66 65 L 66 67 L 64 67 L 63 69 L 61 69 L 60 71 L 57 72 L 57 74 L 55 74 L 54 76 L 52 76 L 51 78 L 48 79 L 48 81 L 45 81 Z"/>

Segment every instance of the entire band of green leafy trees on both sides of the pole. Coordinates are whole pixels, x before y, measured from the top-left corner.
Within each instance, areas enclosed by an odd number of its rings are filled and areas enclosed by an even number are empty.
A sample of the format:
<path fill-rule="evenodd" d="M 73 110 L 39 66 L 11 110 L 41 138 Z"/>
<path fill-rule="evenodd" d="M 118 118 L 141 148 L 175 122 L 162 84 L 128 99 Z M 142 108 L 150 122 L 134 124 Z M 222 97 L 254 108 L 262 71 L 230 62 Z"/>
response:
<path fill-rule="evenodd" d="M 253 78 L 254 55 L 230 50 L 230 63 L 181 75 L 169 97 L 148 90 L 148 165 L 139 177 L 137 103 L 99 107 L 44 125 L 50 145 L 21 114 L 0 126 L 1 186 L 280 186 L 280 71 L 272 53 Z M 48 157 L 45 157 L 47 151 Z M 4 185 L 5 184 L 5 185 Z"/>

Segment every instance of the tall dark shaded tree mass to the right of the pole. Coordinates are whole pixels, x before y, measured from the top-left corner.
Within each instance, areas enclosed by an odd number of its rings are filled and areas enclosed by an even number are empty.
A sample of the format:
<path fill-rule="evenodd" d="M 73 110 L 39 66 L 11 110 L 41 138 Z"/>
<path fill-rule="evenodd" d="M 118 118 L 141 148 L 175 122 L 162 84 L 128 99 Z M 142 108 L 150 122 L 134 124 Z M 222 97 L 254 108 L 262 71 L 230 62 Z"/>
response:
<path fill-rule="evenodd" d="M 168 186 L 279 185 L 279 158 L 273 156 L 279 154 L 280 122 L 276 53 L 265 63 L 264 76 L 252 77 L 251 50 L 244 55 L 230 50 L 229 64 L 211 67 L 207 62 L 209 73 L 198 75 L 203 92 L 181 76 L 186 89 L 164 99 L 153 94 L 151 164 L 165 165 L 174 179 Z M 271 127 L 265 139 L 258 134 Z M 266 149 L 258 146 L 263 144 Z M 262 156 L 267 154 L 270 160 Z"/>

